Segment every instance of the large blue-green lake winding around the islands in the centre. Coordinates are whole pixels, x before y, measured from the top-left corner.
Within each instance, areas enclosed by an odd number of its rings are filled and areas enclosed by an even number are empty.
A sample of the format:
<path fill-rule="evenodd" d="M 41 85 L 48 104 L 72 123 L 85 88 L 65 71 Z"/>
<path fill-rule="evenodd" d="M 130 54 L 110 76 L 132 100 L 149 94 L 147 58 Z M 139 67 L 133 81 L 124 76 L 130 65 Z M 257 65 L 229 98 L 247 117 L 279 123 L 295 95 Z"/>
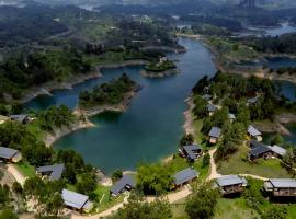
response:
<path fill-rule="evenodd" d="M 155 162 L 178 149 L 183 135 L 186 110 L 184 100 L 203 76 L 214 76 L 216 69 L 210 53 L 201 43 L 181 38 L 187 53 L 170 55 L 179 60 L 180 74 L 164 79 L 146 79 L 140 76 L 143 67 L 103 70 L 103 78 L 89 80 L 72 90 L 55 91 L 53 96 L 41 96 L 29 103 L 33 108 L 53 104 L 66 104 L 73 108 L 81 90 L 128 73 L 144 89 L 133 99 L 123 114 L 104 113 L 91 118 L 98 126 L 79 130 L 58 140 L 56 149 L 73 149 L 87 162 L 102 169 L 106 174 L 116 169 L 135 170 L 139 162 Z"/>

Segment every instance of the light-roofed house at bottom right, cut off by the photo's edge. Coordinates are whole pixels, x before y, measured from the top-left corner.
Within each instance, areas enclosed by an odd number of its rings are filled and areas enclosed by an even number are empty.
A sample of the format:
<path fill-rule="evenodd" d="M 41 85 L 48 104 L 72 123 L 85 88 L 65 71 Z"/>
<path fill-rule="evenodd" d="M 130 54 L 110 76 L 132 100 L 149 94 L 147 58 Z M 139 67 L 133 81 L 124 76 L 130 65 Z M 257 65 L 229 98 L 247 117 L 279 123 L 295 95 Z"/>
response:
<path fill-rule="evenodd" d="M 270 178 L 263 187 L 272 196 L 296 197 L 295 178 Z"/>

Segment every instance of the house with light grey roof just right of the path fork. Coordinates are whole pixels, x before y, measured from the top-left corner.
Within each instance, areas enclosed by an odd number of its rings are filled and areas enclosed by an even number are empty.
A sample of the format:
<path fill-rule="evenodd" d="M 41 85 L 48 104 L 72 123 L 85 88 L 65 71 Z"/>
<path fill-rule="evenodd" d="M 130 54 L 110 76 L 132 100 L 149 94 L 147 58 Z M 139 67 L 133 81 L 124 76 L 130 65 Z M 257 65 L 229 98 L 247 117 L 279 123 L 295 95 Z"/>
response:
<path fill-rule="evenodd" d="M 248 184 L 244 177 L 238 175 L 225 175 L 218 177 L 216 183 L 223 195 L 241 193 Z"/>

